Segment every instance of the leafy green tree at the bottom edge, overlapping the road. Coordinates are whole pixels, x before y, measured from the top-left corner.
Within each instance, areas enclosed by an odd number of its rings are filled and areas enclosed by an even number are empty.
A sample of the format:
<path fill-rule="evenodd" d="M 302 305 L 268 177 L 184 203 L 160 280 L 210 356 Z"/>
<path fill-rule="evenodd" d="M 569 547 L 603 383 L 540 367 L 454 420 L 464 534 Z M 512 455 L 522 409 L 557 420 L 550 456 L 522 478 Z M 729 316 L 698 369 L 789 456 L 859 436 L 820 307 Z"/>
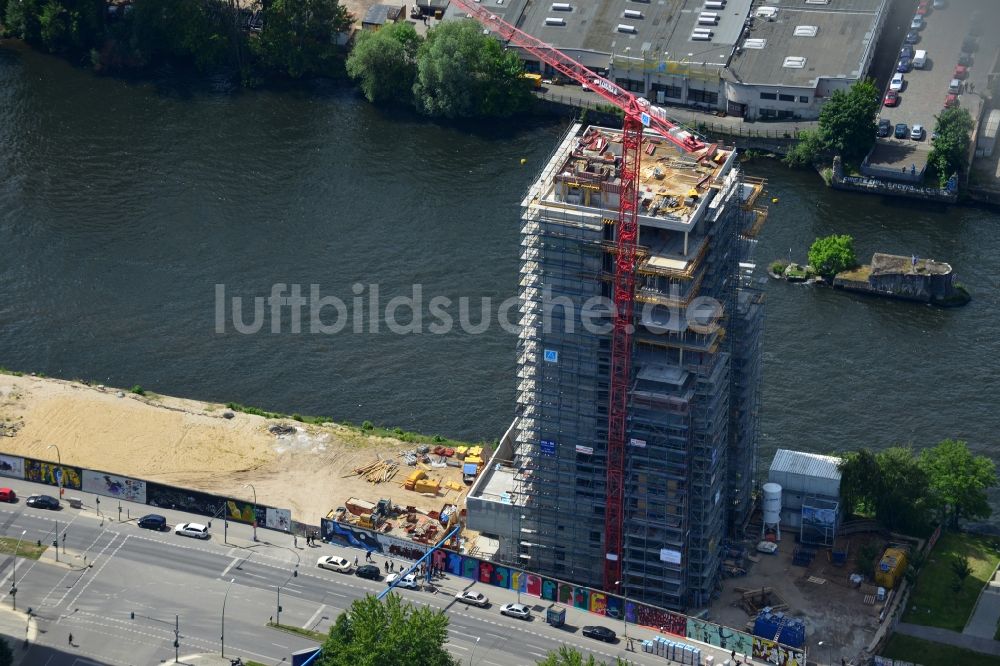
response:
<path fill-rule="evenodd" d="M 337 617 L 317 666 L 459 666 L 444 648 L 447 640 L 444 611 L 414 608 L 397 594 L 383 601 L 368 595 Z"/>

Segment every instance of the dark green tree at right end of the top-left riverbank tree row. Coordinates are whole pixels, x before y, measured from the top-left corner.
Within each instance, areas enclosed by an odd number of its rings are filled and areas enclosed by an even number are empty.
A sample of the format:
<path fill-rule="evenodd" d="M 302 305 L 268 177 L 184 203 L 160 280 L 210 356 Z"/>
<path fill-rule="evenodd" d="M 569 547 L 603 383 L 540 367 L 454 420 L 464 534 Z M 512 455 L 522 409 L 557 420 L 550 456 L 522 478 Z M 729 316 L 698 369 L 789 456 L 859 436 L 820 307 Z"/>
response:
<path fill-rule="evenodd" d="M 342 61 L 337 36 L 354 17 L 337 0 L 265 3 L 258 54 L 272 70 L 293 79 L 333 74 Z"/>

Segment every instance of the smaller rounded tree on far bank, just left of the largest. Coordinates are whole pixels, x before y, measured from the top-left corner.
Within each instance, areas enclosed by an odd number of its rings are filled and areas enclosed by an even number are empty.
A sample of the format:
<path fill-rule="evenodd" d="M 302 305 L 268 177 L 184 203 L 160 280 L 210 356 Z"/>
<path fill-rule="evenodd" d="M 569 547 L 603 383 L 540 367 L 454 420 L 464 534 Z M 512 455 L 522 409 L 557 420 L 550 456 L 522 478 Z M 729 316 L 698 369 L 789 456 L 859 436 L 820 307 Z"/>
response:
<path fill-rule="evenodd" d="M 358 35 L 347 57 L 347 74 L 369 102 L 413 103 L 417 52 L 423 38 L 409 23 L 393 23 Z"/>

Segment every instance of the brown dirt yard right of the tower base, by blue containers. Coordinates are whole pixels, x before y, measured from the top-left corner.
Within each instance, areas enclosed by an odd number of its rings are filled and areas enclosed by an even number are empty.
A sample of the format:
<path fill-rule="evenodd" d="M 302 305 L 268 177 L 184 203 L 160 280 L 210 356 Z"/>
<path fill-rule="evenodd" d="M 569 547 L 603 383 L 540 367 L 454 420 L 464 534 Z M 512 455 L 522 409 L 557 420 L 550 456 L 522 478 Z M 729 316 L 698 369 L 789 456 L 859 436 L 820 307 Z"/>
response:
<path fill-rule="evenodd" d="M 746 576 L 724 581 L 722 595 L 710 609 L 712 620 L 731 627 L 743 627 L 755 616 L 747 615 L 736 605 L 741 594 L 735 588 L 770 587 L 788 604 L 784 612 L 805 622 L 806 651 L 810 663 L 840 664 L 841 658 L 850 663 L 851 658 L 871 641 L 878 628 L 880 606 L 865 604 L 864 593 L 852 587 L 848 578 L 858 571 L 854 560 L 858 546 L 873 538 L 877 537 L 850 537 L 850 556 L 845 566 L 833 566 L 828 549 L 812 547 L 816 551 L 812 564 L 799 567 L 792 565 L 795 536 L 784 535 L 775 555 L 753 553 L 760 561 L 748 563 Z M 810 582 L 810 577 L 824 582 Z M 818 645 L 820 641 L 822 646 Z"/>

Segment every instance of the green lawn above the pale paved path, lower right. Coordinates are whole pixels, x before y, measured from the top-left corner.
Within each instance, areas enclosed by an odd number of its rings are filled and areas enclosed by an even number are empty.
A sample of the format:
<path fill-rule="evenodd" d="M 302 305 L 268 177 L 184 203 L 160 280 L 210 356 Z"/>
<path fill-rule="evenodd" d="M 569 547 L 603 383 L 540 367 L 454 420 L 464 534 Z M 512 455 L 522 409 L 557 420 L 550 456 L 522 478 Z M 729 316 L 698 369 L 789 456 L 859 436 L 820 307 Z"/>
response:
<path fill-rule="evenodd" d="M 993 574 L 997 562 L 1000 562 L 1000 553 L 993 545 L 995 542 L 996 537 L 945 533 L 917 577 L 903 621 L 962 631 L 976 605 L 979 592 Z M 969 558 L 972 574 L 956 592 L 951 563 L 962 556 Z M 965 662 L 952 660 L 951 663 Z"/>

